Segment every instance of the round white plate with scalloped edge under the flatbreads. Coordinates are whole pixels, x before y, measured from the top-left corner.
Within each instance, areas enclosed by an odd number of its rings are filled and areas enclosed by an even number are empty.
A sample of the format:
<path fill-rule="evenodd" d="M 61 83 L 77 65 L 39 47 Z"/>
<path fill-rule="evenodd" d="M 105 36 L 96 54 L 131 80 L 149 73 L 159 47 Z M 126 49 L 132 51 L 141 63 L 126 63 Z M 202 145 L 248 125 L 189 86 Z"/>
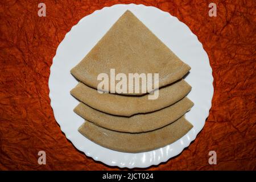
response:
<path fill-rule="evenodd" d="M 194 126 L 186 135 L 158 150 L 130 154 L 109 150 L 83 137 L 77 129 L 84 119 L 73 112 L 79 104 L 69 93 L 77 84 L 71 68 L 92 49 L 114 22 L 127 10 L 132 11 L 163 43 L 185 63 L 191 71 L 185 80 L 192 86 L 188 98 L 194 106 L 185 117 Z M 109 166 L 145 168 L 180 154 L 191 143 L 208 117 L 213 96 L 213 77 L 207 53 L 191 30 L 176 17 L 156 7 L 144 5 L 114 5 L 94 11 L 72 27 L 57 48 L 49 76 L 49 97 L 55 119 L 74 146 L 94 160 Z"/>

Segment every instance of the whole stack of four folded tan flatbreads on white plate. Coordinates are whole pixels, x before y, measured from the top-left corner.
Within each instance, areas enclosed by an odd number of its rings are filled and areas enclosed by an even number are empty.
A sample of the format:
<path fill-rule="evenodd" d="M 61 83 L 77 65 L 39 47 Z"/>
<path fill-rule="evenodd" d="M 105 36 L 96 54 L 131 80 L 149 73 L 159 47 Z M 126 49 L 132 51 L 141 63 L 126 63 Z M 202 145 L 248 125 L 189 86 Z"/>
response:
<path fill-rule="evenodd" d="M 110 69 L 127 77 L 158 73 L 158 98 L 149 100 L 149 90 L 146 94 L 142 90 L 117 94 L 109 88 L 98 92 L 98 75 L 109 75 Z M 121 152 L 150 151 L 175 142 L 193 127 L 184 117 L 193 106 L 186 97 L 191 86 L 183 80 L 190 69 L 127 10 L 71 70 L 80 81 L 71 90 L 80 101 L 74 111 L 86 120 L 79 132 Z"/>

